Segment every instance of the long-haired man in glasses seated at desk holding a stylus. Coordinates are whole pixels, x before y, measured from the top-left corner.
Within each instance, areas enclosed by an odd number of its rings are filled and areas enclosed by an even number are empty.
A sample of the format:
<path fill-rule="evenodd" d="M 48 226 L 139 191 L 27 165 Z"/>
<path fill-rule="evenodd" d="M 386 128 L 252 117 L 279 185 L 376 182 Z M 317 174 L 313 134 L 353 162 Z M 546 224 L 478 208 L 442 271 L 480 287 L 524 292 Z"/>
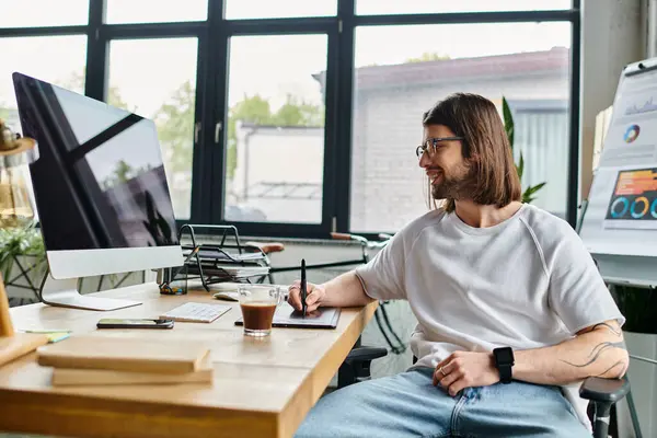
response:
<path fill-rule="evenodd" d="M 623 315 L 575 231 L 520 203 L 492 102 L 454 94 L 423 125 L 419 166 L 441 207 L 307 297 L 309 312 L 408 300 L 418 361 L 322 397 L 298 436 L 590 437 L 577 388 L 625 373 Z M 301 309 L 298 283 L 289 301 Z"/>

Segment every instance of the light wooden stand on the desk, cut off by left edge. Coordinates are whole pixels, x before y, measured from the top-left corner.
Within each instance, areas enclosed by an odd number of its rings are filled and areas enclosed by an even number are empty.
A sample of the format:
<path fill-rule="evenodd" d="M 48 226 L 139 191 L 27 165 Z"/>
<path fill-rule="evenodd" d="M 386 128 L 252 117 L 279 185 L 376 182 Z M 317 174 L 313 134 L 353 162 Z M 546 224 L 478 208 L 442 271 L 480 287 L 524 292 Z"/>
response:
<path fill-rule="evenodd" d="M 0 276 L 0 366 L 46 345 L 43 334 L 15 333 L 9 314 L 9 299 Z"/>

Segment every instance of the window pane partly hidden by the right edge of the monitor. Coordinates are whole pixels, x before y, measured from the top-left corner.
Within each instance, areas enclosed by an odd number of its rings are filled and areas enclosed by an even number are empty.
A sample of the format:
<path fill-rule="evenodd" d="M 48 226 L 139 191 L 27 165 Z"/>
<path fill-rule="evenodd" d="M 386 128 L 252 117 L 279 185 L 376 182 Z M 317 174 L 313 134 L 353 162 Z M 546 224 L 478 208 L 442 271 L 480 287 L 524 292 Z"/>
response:
<path fill-rule="evenodd" d="M 191 217 L 197 45 L 159 38 L 110 46 L 107 102 L 155 122 L 177 219 Z"/>

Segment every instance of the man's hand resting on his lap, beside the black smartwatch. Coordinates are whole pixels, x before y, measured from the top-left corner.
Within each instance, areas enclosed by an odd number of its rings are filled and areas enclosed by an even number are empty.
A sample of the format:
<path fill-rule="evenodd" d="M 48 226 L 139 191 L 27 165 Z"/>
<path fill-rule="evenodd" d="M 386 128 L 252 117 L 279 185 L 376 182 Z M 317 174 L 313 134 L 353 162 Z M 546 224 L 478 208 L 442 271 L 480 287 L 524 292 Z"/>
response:
<path fill-rule="evenodd" d="M 454 396 L 463 388 L 488 387 L 499 381 L 492 353 L 456 351 L 436 366 L 434 385 Z"/>

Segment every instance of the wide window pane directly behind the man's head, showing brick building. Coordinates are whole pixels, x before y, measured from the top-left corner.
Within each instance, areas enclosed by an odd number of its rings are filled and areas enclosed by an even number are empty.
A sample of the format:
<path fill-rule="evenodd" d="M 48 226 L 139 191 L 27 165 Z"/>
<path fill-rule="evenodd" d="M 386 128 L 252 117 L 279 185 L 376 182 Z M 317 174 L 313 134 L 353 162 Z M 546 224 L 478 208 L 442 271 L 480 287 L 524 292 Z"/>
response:
<path fill-rule="evenodd" d="M 546 182 L 534 204 L 565 217 L 569 46 L 569 23 L 356 28 L 351 230 L 394 231 L 427 211 L 422 115 L 454 92 L 500 113 L 509 101 L 523 186 Z"/>

